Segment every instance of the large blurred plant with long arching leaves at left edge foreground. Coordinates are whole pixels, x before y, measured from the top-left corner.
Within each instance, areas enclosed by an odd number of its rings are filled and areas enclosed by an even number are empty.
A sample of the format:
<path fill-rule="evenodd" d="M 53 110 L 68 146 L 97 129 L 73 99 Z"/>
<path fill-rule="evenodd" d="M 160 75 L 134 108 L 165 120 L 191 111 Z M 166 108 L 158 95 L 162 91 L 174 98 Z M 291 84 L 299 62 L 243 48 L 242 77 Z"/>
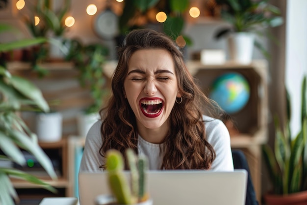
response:
<path fill-rule="evenodd" d="M 0 32 L 14 31 L 10 26 L 0 24 Z M 45 38 L 24 39 L 0 44 L 0 53 L 24 48 L 45 42 Z M 49 111 L 49 105 L 41 91 L 31 82 L 18 76 L 13 76 L 7 70 L 5 62 L 0 63 L 0 159 L 25 165 L 26 160 L 21 149 L 33 154 L 52 179 L 57 176 L 51 160 L 37 143 L 37 137 L 26 126 L 18 115 L 23 110 Z M 0 205 L 13 205 L 18 202 L 18 195 L 12 185 L 10 177 L 21 178 L 31 183 L 55 192 L 48 183 L 35 176 L 26 174 L 11 167 L 0 167 Z"/>

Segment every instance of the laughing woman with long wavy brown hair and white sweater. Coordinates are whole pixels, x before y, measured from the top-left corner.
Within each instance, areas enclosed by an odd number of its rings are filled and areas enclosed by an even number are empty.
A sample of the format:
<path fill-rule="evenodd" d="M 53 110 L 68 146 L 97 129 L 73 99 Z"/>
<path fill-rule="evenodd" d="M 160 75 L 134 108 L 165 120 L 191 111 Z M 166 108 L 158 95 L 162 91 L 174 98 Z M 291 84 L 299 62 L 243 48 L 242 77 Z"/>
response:
<path fill-rule="evenodd" d="M 113 95 L 87 134 L 80 171 L 103 170 L 108 149 L 128 147 L 147 155 L 151 170 L 232 171 L 218 106 L 194 82 L 176 43 L 138 29 L 118 52 Z"/>

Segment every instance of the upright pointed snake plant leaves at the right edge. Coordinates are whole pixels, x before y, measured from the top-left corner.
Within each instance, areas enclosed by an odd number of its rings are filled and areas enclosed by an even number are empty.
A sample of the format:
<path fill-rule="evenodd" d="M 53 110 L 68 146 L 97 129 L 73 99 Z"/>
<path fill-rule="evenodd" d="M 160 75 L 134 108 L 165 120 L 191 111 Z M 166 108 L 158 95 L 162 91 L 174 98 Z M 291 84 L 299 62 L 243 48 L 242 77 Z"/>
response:
<path fill-rule="evenodd" d="M 287 93 L 287 115 L 284 127 L 275 117 L 274 150 L 263 146 L 263 156 L 273 185 L 273 193 L 286 195 L 307 190 L 307 83 L 302 83 L 301 131 L 293 137 L 290 130 L 290 97 Z"/>

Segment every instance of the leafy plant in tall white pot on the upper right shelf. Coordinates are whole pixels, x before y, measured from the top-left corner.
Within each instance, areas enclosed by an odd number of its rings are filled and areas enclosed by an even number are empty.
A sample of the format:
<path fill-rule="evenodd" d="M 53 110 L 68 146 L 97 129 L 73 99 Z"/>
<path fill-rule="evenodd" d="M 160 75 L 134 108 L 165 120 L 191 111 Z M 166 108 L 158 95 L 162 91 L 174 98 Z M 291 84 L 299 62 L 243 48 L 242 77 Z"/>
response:
<path fill-rule="evenodd" d="M 269 53 L 263 45 L 255 39 L 255 34 L 258 36 L 268 36 L 275 40 L 268 28 L 280 26 L 283 23 L 281 11 L 278 7 L 269 3 L 268 0 L 216 0 L 217 5 L 221 7 L 221 18 L 230 25 L 218 29 L 215 33 L 215 38 L 228 36 L 229 47 L 232 48 L 230 55 L 235 54 L 234 51 L 238 48 L 232 46 L 237 39 L 250 39 L 243 44 L 250 45 L 250 49 L 258 48 L 265 57 L 269 57 Z M 241 43 L 242 44 L 242 43 Z M 252 58 L 252 51 L 249 52 L 246 58 L 246 63 L 249 63 Z M 230 56 L 231 59 L 240 60 L 238 56 Z"/>

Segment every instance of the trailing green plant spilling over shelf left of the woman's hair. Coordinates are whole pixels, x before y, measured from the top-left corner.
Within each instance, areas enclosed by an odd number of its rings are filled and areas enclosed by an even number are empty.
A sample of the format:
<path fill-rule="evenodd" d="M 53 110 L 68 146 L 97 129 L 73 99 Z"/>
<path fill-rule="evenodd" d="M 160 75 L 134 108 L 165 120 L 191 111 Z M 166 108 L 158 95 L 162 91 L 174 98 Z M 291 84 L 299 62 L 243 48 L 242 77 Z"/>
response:
<path fill-rule="evenodd" d="M 66 59 L 75 62 L 80 71 L 78 76 L 80 85 L 89 88 L 93 98 L 93 103 L 86 108 L 85 113 L 97 113 L 109 93 L 103 72 L 109 50 L 102 44 L 83 45 L 77 39 L 72 39 L 70 44 L 70 52 Z"/>

